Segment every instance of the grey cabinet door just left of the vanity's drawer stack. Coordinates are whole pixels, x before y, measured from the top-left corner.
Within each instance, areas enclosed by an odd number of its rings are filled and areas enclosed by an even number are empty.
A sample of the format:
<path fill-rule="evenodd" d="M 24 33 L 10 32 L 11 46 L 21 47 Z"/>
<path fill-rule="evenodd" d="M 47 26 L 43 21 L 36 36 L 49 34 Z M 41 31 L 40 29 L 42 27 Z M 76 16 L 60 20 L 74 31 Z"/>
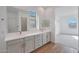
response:
<path fill-rule="evenodd" d="M 25 52 L 32 52 L 34 50 L 34 36 L 25 38 Z"/>

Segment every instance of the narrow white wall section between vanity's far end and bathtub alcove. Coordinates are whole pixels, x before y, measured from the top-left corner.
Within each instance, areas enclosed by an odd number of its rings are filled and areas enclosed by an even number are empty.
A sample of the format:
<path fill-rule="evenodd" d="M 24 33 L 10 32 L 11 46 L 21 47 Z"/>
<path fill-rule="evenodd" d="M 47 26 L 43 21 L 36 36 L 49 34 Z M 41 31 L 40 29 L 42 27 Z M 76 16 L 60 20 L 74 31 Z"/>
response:
<path fill-rule="evenodd" d="M 55 41 L 55 12 L 54 12 L 54 8 L 50 7 L 48 9 L 48 18 L 50 20 L 50 30 L 51 30 L 51 41 L 54 42 Z"/>

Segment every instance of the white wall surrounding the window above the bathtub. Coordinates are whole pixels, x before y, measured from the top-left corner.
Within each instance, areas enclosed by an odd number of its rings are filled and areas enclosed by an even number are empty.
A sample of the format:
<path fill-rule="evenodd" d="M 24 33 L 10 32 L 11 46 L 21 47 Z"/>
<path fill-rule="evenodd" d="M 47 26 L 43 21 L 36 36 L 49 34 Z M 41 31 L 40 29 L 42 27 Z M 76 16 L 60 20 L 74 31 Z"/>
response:
<path fill-rule="evenodd" d="M 57 27 L 60 27 L 60 31 L 57 30 L 56 34 L 58 32 L 64 33 L 64 34 L 75 34 L 78 35 L 78 27 L 77 28 L 69 28 L 67 24 L 67 17 L 68 16 L 74 16 L 77 18 L 78 21 L 78 8 L 77 7 L 59 7 L 55 10 L 55 19 L 58 23 Z M 58 28 L 57 28 L 58 29 Z"/>

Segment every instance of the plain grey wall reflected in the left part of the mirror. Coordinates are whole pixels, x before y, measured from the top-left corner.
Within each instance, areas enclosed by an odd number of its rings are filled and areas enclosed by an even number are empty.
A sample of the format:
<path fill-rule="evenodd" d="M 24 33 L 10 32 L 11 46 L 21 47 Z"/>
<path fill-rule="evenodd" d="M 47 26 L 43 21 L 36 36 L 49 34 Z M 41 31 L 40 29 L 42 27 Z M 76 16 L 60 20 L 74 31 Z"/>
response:
<path fill-rule="evenodd" d="M 19 31 L 19 10 L 13 7 L 7 7 L 7 29 L 8 33 Z"/>

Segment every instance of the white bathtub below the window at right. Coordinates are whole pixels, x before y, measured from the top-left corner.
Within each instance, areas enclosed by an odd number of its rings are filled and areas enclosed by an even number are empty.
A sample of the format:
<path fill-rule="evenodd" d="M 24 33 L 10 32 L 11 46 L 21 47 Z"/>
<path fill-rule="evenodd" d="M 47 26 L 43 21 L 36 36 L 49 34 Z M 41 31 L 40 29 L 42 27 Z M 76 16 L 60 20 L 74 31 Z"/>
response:
<path fill-rule="evenodd" d="M 64 46 L 79 50 L 78 49 L 79 36 L 61 34 L 56 37 L 57 37 L 55 40 L 56 43 L 60 43 L 60 44 L 63 44 Z"/>

